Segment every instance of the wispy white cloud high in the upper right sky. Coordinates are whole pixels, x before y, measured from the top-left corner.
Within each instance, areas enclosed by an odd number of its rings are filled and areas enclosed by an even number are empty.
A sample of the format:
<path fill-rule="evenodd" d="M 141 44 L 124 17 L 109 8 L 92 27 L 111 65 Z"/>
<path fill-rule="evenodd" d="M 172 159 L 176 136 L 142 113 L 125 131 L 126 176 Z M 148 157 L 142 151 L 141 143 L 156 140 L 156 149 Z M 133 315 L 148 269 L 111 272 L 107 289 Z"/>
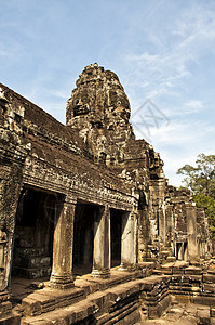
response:
<path fill-rule="evenodd" d="M 160 26 L 159 41 L 153 30 L 147 29 L 156 46 L 153 53 L 148 50 L 125 56 L 133 72 L 133 84 L 143 88 L 147 98 L 179 96 L 180 88 L 191 78 L 190 62 L 198 64 L 202 53 L 212 49 L 212 43 L 215 46 L 215 15 L 204 5 L 190 8 L 174 22 L 170 20 L 169 27 L 166 31 L 166 25 Z"/>

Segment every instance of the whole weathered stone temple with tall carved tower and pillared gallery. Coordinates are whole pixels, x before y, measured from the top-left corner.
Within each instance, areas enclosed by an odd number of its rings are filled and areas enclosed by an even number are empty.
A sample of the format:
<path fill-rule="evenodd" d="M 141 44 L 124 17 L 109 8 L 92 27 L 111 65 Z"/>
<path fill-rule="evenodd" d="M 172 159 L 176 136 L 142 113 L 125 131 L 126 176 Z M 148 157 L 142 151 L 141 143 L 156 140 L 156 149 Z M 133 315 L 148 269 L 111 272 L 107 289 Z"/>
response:
<path fill-rule="evenodd" d="M 115 73 L 76 84 L 65 126 L 0 83 L 0 324 L 136 324 L 173 297 L 213 321 L 204 211 L 135 140 Z"/>

